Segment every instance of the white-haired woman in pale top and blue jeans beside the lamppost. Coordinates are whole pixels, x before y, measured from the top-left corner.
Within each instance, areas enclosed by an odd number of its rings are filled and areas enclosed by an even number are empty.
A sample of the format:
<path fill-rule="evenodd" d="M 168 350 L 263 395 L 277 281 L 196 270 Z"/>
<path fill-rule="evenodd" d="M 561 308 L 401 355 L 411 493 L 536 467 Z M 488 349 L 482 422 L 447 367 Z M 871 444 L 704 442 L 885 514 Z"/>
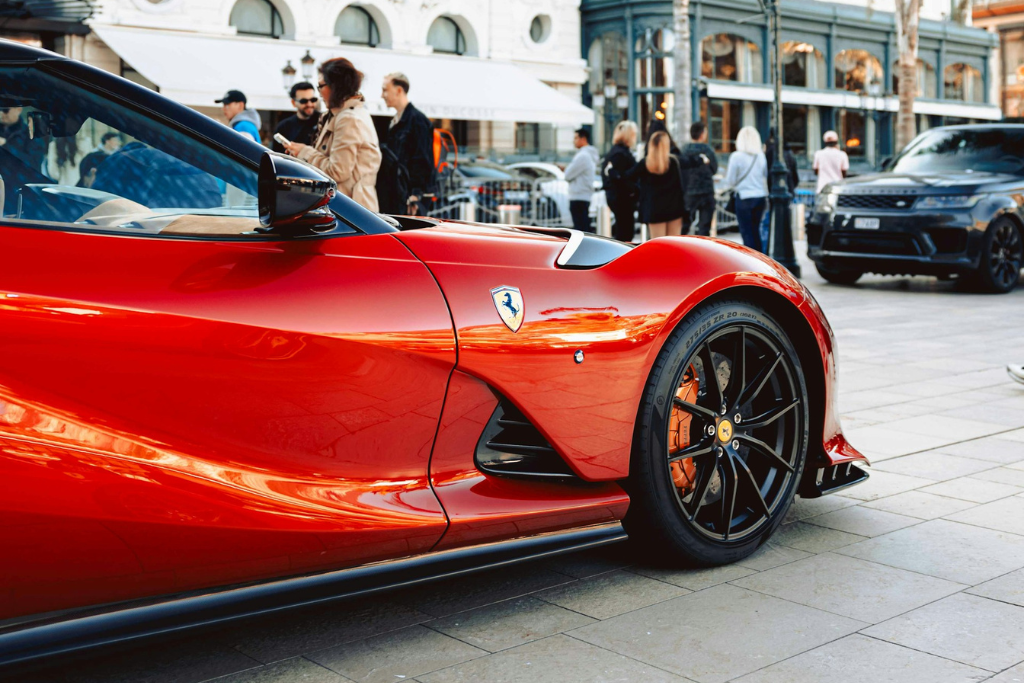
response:
<path fill-rule="evenodd" d="M 736 196 L 736 222 L 743 245 L 763 252 L 760 230 L 768 197 L 768 161 L 761 133 L 754 126 L 743 126 L 736 135 L 736 151 L 729 156 L 725 184 Z"/>

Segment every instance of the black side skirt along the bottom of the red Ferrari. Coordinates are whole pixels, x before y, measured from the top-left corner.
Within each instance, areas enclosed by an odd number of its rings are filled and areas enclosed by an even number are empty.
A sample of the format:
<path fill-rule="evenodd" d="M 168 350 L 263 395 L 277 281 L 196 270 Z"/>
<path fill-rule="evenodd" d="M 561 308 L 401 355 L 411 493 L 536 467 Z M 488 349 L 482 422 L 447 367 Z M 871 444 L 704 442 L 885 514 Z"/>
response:
<path fill-rule="evenodd" d="M 329 573 L 193 595 L 0 632 L 0 667 L 310 605 L 624 541 L 614 522 L 427 553 Z"/>

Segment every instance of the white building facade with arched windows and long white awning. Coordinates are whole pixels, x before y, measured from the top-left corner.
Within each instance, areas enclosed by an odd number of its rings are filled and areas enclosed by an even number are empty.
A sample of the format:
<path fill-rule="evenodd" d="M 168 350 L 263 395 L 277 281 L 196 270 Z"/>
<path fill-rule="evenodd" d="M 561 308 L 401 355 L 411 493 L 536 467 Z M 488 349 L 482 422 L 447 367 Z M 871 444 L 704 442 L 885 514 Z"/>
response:
<path fill-rule="evenodd" d="M 406 73 L 414 103 L 470 155 L 553 158 L 593 120 L 579 0 L 103 0 L 89 27 L 66 54 L 211 116 L 236 88 L 275 121 L 291 110 L 284 70 L 303 80 L 303 57 L 345 56 L 379 122 L 392 114 L 383 76 Z"/>

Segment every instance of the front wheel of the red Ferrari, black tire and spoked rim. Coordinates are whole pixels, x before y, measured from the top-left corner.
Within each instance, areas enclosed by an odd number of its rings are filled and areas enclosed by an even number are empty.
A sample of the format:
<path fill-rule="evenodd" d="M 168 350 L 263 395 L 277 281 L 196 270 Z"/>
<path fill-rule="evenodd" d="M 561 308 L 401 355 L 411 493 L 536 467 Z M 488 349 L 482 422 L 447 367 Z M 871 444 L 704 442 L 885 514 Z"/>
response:
<path fill-rule="evenodd" d="M 790 509 L 808 425 L 800 359 L 771 315 L 734 300 L 693 310 L 658 354 L 640 405 L 624 482 L 631 539 L 676 564 L 746 557 Z"/>

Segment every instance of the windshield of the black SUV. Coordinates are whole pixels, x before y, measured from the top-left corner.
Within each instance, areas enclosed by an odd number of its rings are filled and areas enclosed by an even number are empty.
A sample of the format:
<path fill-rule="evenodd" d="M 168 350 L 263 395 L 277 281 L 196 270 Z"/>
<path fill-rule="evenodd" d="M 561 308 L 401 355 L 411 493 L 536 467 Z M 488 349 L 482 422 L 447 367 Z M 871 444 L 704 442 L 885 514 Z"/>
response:
<path fill-rule="evenodd" d="M 953 128 L 922 134 L 896 158 L 895 173 L 1024 170 L 1024 129 Z"/>

